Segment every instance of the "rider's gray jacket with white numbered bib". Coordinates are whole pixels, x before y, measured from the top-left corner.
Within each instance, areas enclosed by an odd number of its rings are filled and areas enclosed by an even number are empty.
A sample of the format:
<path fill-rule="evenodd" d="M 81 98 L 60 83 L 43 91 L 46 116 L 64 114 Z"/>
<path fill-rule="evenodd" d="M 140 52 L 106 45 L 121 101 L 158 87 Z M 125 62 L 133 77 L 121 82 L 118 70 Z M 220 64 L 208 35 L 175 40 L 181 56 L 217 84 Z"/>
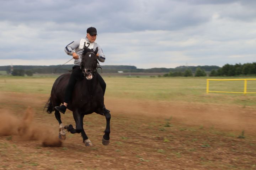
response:
<path fill-rule="evenodd" d="M 70 44 L 68 44 L 65 47 L 65 52 L 68 55 L 72 56 L 72 54 L 74 52 L 76 52 L 76 54 L 78 55 L 79 58 L 78 58 L 78 60 L 74 61 L 74 65 L 80 66 L 80 63 L 81 63 L 81 60 L 82 60 L 82 58 L 81 58 L 82 52 L 84 51 L 84 50 L 81 50 L 81 49 L 83 49 L 85 46 L 87 48 L 93 49 L 93 50 L 95 50 L 98 47 L 99 56 L 97 57 L 97 59 L 100 62 L 105 61 L 105 55 L 104 55 L 101 47 L 96 42 L 90 42 L 86 37 L 86 38 L 82 38 L 80 40 L 75 40 L 75 41 L 71 42 Z"/>

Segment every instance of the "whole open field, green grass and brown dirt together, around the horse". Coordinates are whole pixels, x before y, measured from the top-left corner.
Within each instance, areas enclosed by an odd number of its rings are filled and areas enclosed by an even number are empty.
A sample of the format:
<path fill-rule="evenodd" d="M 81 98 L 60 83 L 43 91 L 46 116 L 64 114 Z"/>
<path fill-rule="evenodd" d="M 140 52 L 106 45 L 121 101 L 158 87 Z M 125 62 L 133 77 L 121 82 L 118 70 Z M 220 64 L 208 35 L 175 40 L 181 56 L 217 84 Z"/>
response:
<path fill-rule="evenodd" d="M 43 111 L 56 78 L 0 76 L 0 114 L 13 113 L 22 123 L 32 106 L 36 126 L 58 136 L 54 114 Z M 106 120 L 97 114 L 84 118 L 92 147 L 69 132 L 61 147 L 4 136 L 1 132 L 17 127 L 1 117 L 0 169 L 256 169 L 256 94 L 206 94 L 206 78 L 103 78 L 111 110 L 110 145 L 101 144 Z M 243 84 L 211 83 L 214 88 L 242 91 Z M 248 89 L 256 92 L 255 82 Z M 70 111 L 62 121 L 75 124 Z"/>

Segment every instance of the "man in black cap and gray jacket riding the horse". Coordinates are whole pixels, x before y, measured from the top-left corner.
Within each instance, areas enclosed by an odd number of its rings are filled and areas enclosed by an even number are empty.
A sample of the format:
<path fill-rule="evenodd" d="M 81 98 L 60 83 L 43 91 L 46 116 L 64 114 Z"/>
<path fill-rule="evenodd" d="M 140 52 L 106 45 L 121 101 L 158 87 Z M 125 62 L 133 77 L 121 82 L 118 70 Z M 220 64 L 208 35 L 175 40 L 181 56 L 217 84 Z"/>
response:
<path fill-rule="evenodd" d="M 72 92 L 75 87 L 76 81 L 81 79 L 82 76 L 84 76 L 82 73 L 82 70 L 80 69 L 80 63 L 82 60 L 81 55 L 83 52 L 82 49 L 87 47 L 87 48 L 93 49 L 95 51 L 95 49 L 98 47 L 98 53 L 96 55 L 97 59 L 100 62 L 105 61 L 105 55 L 104 55 L 101 47 L 95 42 L 96 38 L 97 38 L 96 28 L 89 27 L 87 29 L 86 38 L 82 38 L 80 40 L 73 41 L 65 47 L 65 52 L 68 55 L 72 55 L 73 58 L 75 59 L 75 61 L 74 61 L 73 71 L 71 73 L 68 86 L 66 87 L 64 103 L 62 106 L 55 106 L 54 107 L 55 110 L 57 110 L 63 114 L 65 113 L 66 107 L 68 106 L 68 103 L 71 99 Z M 100 86 L 103 90 L 103 95 L 104 95 L 105 90 L 106 90 L 106 83 L 103 80 L 103 78 L 100 76 L 100 74 L 98 74 L 97 77 L 98 77 L 98 81 L 100 83 Z M 103 110 L 110 112 L 109 110 L 106 109 L 104 104 L 103 104 Z"/>

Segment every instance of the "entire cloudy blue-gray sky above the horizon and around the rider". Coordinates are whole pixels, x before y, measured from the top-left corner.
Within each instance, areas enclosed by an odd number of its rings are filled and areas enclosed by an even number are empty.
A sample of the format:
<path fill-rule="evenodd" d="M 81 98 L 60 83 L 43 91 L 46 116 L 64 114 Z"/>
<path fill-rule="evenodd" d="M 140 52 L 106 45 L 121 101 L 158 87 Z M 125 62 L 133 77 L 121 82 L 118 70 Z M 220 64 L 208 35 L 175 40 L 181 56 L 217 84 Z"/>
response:
<path fill-rule="evenodd" d="M 101 65 L 256 62 L 255 0 L 0 0 L 0 66 L 57 65 L 96 27 Z M 70 61 L 68 64 L 72 64 Z"/>

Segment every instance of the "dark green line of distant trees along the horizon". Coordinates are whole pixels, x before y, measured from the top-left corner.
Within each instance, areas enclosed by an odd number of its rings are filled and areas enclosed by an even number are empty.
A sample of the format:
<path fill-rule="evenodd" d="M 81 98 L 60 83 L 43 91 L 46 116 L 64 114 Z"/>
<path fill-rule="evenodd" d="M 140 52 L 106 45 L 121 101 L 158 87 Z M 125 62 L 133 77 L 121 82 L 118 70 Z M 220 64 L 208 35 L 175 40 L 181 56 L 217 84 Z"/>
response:
<path fill-rule="evenodd" d="M 12 75 L 15 76 L 32 76 L 34 73 L 52 74 L 67 73 L 73 65 L 57 66 L 13 66 Z M 239 75 L 256 75 L 256 62 L 245 64 L 225 64 L 223 67 L 218 66 L 178 66 L 176 68 L 150 68 L 138 69 L 135 66 L 101 66 L 103 73 L 166 73 L 164 77 L 203 77 L 203 76 L 239 76 Z M 10 66 L 0 66 L 0 70 L 6 70 L 11 73 Z M 101 72 L 101 70 L 99 70 Z M 208 73 L 208 74 L 207 74 Z"/>

